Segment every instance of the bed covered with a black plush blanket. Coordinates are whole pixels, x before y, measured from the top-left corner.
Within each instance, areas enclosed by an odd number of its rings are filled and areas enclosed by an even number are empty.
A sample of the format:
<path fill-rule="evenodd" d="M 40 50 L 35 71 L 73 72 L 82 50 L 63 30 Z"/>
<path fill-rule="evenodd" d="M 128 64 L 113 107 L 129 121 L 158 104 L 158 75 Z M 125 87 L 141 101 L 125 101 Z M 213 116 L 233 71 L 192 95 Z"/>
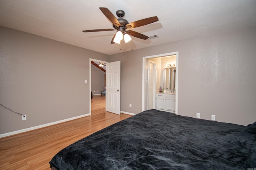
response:
<path fill-rule="evenodd" d="M 242 126 L 149 110 L 67 146 L 52 170 L 256 168 L 256 123 Z"/>

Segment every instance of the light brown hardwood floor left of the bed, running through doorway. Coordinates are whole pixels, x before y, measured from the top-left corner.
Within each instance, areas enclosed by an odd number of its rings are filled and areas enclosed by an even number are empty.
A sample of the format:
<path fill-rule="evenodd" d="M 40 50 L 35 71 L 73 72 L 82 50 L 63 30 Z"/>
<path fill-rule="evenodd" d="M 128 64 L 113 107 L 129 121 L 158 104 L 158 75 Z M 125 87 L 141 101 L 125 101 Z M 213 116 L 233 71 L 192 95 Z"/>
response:
<path fill-rule="evenodd" d="M 0 169 L 50 170 L 48 162 L 62 148 L 131 117 L 105 111 L 105 96 L 102 95 L 93 96 L 91 104 L 91 116 L 0 138 Z"/>

